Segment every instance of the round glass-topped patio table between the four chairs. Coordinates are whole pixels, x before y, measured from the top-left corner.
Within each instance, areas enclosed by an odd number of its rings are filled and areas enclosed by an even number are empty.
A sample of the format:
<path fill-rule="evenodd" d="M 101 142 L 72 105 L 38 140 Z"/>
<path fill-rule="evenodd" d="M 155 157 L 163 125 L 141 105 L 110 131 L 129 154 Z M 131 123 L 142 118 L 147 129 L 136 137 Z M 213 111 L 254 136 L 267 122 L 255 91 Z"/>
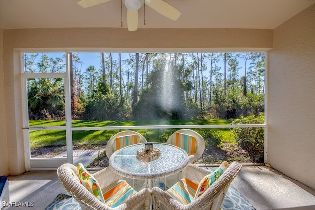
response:
<path fill-rule="evenodd" d="M 139 160 L 137 151 L 144 146 L 145 143 L 134 144 L 115 151 L 109 158 L 109 167 L 123 177 L 147 180 L 151 189 L 153 180 L 176 174 L 188 164 L 188 155 L 184 150 L 155 142 L 153 148 L 160 150 L 160 156 L 151 161 Z"/>

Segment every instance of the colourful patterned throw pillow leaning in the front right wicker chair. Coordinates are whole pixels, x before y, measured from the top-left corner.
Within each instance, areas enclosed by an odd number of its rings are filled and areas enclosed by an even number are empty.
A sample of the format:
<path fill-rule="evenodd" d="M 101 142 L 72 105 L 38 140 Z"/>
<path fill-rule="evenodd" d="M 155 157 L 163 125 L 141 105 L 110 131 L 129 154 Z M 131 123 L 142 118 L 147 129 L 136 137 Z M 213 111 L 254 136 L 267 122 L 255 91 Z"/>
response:
<path fill-rule="evenodd" d="M 209 186 L 211 186 L 216 180 L 218 180 L 219 177 L 223 174 L 223 172 L 227 169 L 227 167 L 228 167 L 228 162 L 224 161 L 214 172 L 206 175 L 200 181 L 198 188 L 196 190 L 194 199 L 196 200 L 209 188 Z"/>

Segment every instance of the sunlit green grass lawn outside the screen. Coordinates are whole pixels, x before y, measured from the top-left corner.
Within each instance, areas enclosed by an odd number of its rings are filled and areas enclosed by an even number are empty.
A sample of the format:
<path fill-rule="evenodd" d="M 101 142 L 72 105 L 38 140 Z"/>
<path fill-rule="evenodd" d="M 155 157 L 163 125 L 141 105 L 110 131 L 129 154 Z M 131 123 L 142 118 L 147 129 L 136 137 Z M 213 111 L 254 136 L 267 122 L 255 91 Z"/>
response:
<path fill-rule="evenodd" d="M 141 125 L 229 125 L 227 119 L 189 119 L 189 120 L 73 120 L 72 127 L 102 127 L 102 126 L 141 126 Z M 65 126 L 62 120 L 30 120 L 30 126 Z M 203 128 L 204 129 L 204 128 Z M 221 136 L 221 143 L 235 143 L 229 128 L 216 129 Z M 141 133 L 148 142 L 166 142 L 168 137 L 178 129 L 134 129 Z M 201 129 L 193 129 L 201 133 Z M 105 145 L 116 133 L 122 130 L 87 130 L 72 131 L 74 145 Z M 206 140 L 206 139 L 205 139 Z M 66 145 L 65 130 L 30 130 L 31 149 L 35 147 Z"/>

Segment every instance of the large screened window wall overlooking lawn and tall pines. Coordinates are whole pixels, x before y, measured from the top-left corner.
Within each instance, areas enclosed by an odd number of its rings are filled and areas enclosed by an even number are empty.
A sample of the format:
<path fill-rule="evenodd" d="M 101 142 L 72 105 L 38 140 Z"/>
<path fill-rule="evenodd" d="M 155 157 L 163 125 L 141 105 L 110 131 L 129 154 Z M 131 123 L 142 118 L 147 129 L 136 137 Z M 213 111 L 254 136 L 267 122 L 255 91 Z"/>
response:
<path fill-rule="evenodd" d="M 27 76 L 29 126 L 64 129 L 32 131 L 31 153 L 65 146 L 67 129 L 73 149 L 100 149 L 121 130 L 166 142 L 187 128 L 205 139 L 199 163 L 263 161 L 264 52 L 24 52 L 23 59 L 24 75 L 69 75 L 68 86 L 64 78 Z"/>

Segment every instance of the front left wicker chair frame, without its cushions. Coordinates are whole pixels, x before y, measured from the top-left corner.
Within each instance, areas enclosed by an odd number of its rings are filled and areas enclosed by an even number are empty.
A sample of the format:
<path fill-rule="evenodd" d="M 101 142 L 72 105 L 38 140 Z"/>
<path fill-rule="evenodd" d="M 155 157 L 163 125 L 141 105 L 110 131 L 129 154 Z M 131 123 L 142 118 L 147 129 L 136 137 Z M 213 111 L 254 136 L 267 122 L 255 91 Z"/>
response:
<path fill-rule="evenodd" d="M 68 193 L 75 198 L 83 210 L 144 210 L 151 204 L 151 191 L 148 188 L 142 189 L 137 194 L 126 200 L 116 208 L 111 208 L 103 204 L 90 193 L 79 181 L 77 168 L 65 163 L 57 169 L 58 178 Z M 106 186 L 121 180 L 121 177 L 115 174 L 109 167 L 93 174 L 103 189 Z"/>

